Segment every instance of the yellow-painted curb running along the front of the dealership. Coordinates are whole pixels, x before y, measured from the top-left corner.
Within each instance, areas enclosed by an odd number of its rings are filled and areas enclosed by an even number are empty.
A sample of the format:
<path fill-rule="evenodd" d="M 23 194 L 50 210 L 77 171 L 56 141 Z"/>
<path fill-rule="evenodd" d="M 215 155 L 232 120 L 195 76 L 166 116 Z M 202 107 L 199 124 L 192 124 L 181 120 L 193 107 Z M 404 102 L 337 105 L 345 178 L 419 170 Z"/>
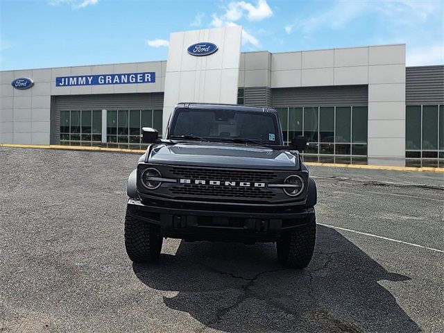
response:
<path fill-rule="evenodd" d="M 59 149 L 64 151 L 109 151 L 114 153 L 145 153 L 145 150 L 125 149 L 125 148 L 102 148 L 102 147 L 84 147 L 84 146 L 58 146 L 58 145 L 40 145 L 40 144 L 0 144 L 5 148 L 37 148 L 37 149 Z M 366 164 L 334 164 L 320 162 L 305 162 L 309 167 L 334 167 L 349 169 L 368 169 L 368 170 L 391 170 L 391 171 L 417 171 L 417 172 L 438 172 L 444 173 L 444 168 L 434 167 L 393 167 L 390 165 L 366 165 Z"/>

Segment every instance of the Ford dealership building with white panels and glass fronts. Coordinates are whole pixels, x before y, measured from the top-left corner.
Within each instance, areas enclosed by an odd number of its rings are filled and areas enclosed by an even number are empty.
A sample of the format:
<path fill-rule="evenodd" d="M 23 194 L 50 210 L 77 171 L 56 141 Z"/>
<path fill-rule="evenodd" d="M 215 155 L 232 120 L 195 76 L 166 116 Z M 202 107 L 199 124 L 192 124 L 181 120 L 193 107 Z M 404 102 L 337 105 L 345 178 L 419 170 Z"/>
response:
<path fill-rule="evenodd" d="M 171 33 L 166 61 L 0 71 L 0 143 L 140 149 L 176 103 L 230 103 L 278 110 L 306 161 L 444 167 L 444 65 L 406 67 L 405 44 L 240 48 L 232 26 Z"/>

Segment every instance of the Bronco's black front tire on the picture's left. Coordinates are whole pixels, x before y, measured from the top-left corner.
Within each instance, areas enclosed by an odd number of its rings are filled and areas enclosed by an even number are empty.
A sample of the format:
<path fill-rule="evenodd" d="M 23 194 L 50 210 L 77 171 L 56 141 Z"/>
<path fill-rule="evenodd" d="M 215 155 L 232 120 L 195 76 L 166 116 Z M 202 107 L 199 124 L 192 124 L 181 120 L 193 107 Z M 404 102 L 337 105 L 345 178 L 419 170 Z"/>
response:
<path fill-rule="evenodd" d="M 126 209 L 125 247 L 133 262 L 154 262 L 162 250 L 160 227 L 134 219 Z"/>

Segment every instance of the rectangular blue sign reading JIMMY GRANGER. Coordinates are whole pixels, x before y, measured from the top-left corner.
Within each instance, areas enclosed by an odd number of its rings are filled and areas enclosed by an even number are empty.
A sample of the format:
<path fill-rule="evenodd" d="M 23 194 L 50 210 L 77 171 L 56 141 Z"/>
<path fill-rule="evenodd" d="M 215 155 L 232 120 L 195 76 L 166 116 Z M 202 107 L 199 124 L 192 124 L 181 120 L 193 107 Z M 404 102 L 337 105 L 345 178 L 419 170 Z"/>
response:
<path fill-rule="evenodd" d="M 73 85 L 130 85 L 135 83 L 155 83 L 155 72 L 56 77 L 56 87 L 70 87 Z"/>

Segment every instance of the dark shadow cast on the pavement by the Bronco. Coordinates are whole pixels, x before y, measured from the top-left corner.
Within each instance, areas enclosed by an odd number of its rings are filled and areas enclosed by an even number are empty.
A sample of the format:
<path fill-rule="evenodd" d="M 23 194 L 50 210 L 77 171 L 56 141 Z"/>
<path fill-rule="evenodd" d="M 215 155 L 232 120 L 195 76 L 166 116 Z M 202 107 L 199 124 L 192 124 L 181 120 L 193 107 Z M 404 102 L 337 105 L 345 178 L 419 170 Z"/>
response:
<path fill-rule="evenodd" d="M 339 232 L 318 225 L 302 271 L 282 268 L 274 244 L 185 243 L 157 264 L 134 264 L 148 287 L 207 327 L 226 332 L 420 332 L 380 280 L 389 273 Z M 172 293 L 173 294 L 173 293 Z"/>

